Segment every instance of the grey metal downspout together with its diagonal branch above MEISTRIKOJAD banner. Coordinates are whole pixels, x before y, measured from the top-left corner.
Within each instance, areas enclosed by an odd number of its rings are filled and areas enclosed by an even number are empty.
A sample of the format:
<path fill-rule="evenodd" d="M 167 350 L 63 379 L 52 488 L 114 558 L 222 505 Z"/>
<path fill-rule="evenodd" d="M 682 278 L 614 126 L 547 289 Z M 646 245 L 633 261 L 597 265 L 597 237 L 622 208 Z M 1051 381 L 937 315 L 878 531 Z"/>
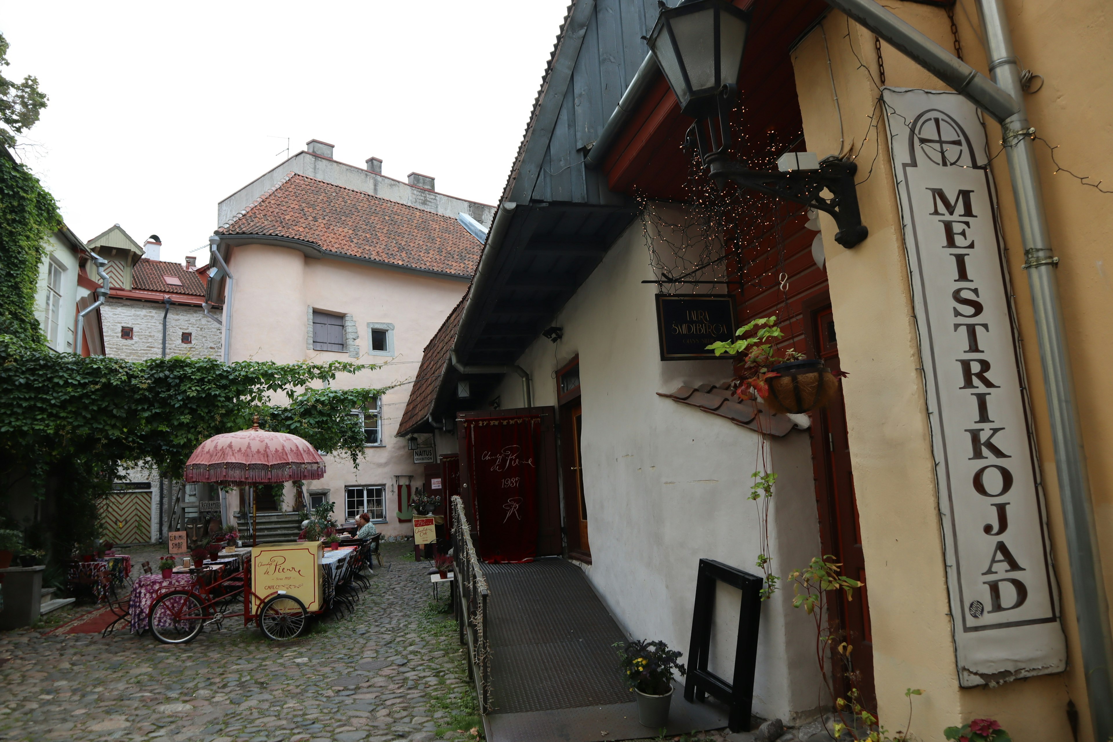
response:
<path fill-rule="evenodd" d="M 1020 65 L 1013 53 L 1012 34 L 1002 2 L 977 2 L 993 82 L 874 0 L 827 2 L 934 73 L 1002 126 L 1021 241 L 1024 246 L 1024 269 L 1028 274 L 1032 291 L 1090 716 L 1094 739 L 1109 740 L 1113 736 L 1113 636 L 1109 623 L 1109 601 L 1055 276 L 1058 258 L 1052 255 L 1043 189 L 1030 138 L 1034 129 L 1031 128 L 1024 106 Z"/>

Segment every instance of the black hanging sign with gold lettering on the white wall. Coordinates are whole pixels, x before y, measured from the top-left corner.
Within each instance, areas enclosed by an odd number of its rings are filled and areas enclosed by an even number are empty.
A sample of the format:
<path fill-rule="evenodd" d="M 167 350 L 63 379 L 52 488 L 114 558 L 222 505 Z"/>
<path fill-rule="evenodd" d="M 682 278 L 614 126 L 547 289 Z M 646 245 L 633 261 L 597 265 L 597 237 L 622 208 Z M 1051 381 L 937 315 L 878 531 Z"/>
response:
<path fill-rule="evenodd" d="M 733 296 L 657 295 L 661 360 L 717 358 L 707 346 L 730 340 L 737 329 Z"/>

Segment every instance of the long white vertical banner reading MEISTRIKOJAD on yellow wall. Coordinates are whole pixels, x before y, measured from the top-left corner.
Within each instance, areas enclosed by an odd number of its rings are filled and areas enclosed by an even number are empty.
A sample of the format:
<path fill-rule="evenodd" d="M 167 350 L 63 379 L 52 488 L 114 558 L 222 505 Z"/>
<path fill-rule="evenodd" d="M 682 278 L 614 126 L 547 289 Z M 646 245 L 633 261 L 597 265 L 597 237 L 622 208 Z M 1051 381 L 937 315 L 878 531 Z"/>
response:
<path fill-rule="evenodd" d="M 957 93 L 884 96 L 959 683 L 1062 672 L 1066 646 L 985 130 Z"/>

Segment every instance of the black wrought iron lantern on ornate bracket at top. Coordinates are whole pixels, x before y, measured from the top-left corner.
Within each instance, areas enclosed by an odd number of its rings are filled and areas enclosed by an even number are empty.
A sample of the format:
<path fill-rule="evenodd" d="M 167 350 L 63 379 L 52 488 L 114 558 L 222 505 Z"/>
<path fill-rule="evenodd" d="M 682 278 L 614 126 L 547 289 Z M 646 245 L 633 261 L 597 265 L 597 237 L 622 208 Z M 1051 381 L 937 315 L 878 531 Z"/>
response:
<path fill-rule="evenodd" d="M 808 152 L 787 152 L 776 171 L 749 170 L 728 155 L 731 109 L 750 28 L 750 13 L 728 0 L 684 0 L 676 8 L 660 2 L 657 26 L 647 38 L 680 110 L 696 119 L 686 145 L 699 148 L 708 175 L 720 187 L 732 180 L 785 200 L 826 211 L 835 218 L 835 240 L 854 247 L 869 230 L 861 224 L 854 175 L 858 166 L 837 156 L 819 161 Z M 829 196 L 824 196 L 827 192 Z"/>

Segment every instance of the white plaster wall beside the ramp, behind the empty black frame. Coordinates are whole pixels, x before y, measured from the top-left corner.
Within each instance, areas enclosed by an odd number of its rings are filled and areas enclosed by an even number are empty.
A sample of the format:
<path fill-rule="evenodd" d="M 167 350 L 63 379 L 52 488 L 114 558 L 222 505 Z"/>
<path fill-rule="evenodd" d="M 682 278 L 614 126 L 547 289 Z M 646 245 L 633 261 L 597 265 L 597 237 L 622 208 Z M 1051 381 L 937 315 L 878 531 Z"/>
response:
<path fill-rule="evenodd" d="M 592 564 L 584 566 L 631 637 L 660 639 L 688 654 L 701 557 L 760 574 L 759 520 L 747 499 L 759 436 L 657 392 L 729 378 L 729 360 L 660 360 L 653 278 L 641 225 L 619 238 L 553 324 L 519 359 L 536 405 L 554 405 L 553 372 L 580 356 L 583 481 Z M 521 406 L 521 384 L 492 396 Z M 770 441 L 779 475 L 769 516 L 772 570 L 787 576 L 819 555 L 808 434 Z M 754 712 L 795 721 L 817 705 L 815 627 L 785 585 L 762 604 Z M 710 669 L 732 675 L 740 593 L 721 587 Z M 727 602 L 730 604 L 728 605 Z"/>

